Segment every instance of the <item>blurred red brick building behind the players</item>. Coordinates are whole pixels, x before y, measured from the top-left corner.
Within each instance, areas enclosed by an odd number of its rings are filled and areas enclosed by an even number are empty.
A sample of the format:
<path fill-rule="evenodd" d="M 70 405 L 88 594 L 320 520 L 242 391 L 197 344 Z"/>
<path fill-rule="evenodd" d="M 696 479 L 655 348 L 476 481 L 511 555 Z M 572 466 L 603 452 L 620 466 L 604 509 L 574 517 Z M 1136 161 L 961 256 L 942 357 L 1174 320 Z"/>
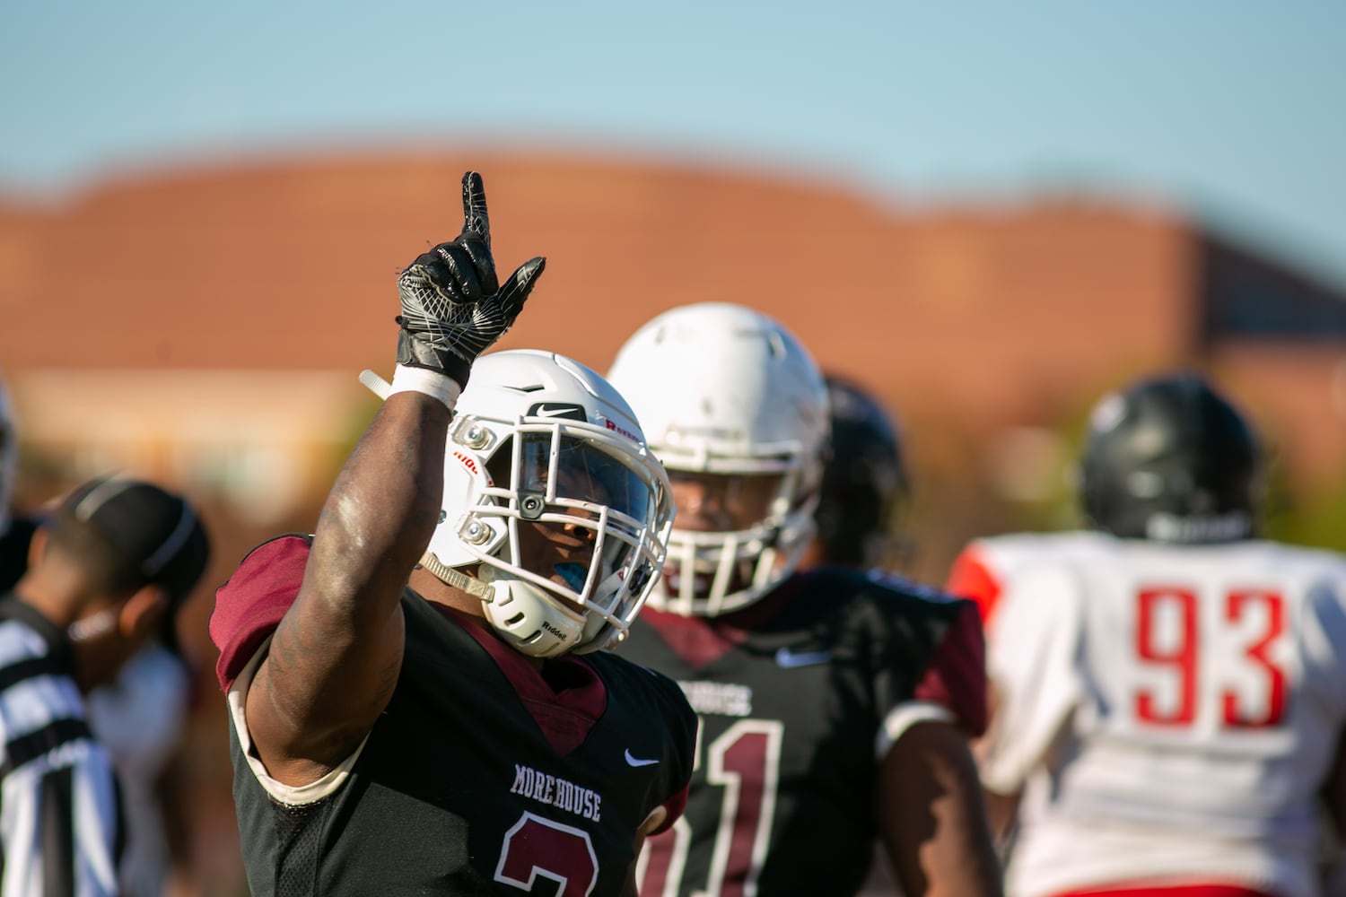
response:
<path fill-rule="evenodd" d="M 184 487 L 217 534 L 213 585 L 258 539 L 311 529 L 373 407 L 357 373 L 392 373 L 394 277 L 458 233 L 471 167 L 501 268 L 548 257 L 502 346 L 603 370 L 677 304 L 775 315 L 902 417 L 925 578 L 1058 490 L 1061 428 L 1156 367 L 1203 367 L 1241 397 L 1291 494 L 1346 484 L 1346 297 L 1180 210 L 909 210 L 743 171 L 446 153 L 149 172 L 55 207 L 0 200 L 0 371 L 23 498 L 108 468 Z M 192 608 L 184 639 L 213 660 L 209 590 Z M 207 717 L 201 737 L 222 752 L 219 726 Z M 214 800 L 203 816 L 227 842 L 227 789 Z"/>

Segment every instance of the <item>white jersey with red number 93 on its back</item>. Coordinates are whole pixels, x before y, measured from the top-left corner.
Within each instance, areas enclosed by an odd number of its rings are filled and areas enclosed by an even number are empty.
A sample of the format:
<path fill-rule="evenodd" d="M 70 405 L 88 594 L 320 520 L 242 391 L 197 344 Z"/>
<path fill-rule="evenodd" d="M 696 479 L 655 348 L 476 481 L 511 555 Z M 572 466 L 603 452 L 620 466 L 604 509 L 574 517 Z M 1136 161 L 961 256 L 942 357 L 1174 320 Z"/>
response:
<path fill-rule="evenodd" d="M 1346 722 L 1346 558 L 1097 534 L 985 557 L 1003 594 L 983 775 L 1024 791 L 1012 893 L 1221 869 L 1314 893 L 1315 792 Z"/>

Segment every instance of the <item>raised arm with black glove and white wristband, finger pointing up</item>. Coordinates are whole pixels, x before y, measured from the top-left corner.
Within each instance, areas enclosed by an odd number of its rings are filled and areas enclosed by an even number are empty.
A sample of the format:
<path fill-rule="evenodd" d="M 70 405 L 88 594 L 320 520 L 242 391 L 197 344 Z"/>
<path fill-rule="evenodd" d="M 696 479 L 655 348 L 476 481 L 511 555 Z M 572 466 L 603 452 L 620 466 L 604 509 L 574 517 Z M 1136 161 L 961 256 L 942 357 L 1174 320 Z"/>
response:
<path fill-rule="evenodd" d="M 463 176 L 463 230 L 398 277 L 392 391 L 323 506 L 293 605 L 248 691 L 272 777 L 306 784 L 359 745 L 397 685 L 400 598 L 440 514 L 452 407 L 476 356 L 513 323 L 544 260 L 501 286 L 482 179 Z"/>

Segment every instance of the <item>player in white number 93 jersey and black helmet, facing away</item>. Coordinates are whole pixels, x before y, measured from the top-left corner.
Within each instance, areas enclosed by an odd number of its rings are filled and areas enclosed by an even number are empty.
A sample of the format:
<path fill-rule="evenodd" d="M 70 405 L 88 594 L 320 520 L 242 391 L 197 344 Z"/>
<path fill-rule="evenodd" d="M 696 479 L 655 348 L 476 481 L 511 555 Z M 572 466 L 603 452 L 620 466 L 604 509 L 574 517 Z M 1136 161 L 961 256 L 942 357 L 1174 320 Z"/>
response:
<path fill-rule="evenodd" d="M 1201 377 L 1109 395 L 1096 531 L 972 542 L 983 783 L 1014 897 L 1322 897 L 1346 815 L 1346 558 L 1254 537 L 1256 438 Z M 1326 810 L 1326 814 L 1324 814 Z M 1330 822 L 1329 822 L 1330 820 Z"/>

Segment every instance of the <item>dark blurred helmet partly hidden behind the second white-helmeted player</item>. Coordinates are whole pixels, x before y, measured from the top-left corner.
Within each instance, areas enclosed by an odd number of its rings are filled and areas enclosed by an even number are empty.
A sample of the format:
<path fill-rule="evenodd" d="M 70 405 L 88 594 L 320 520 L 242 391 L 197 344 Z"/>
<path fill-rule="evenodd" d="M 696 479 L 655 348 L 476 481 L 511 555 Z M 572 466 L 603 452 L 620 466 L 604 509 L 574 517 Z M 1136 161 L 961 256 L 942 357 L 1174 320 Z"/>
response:
<path fill-rule="evenodd" d="M 828 563 L 874 566 L 895 546 L 891 529 L 910 488 L 898 426 L 852 381 L 825 375 L 832 440 L 814 518 Z"/>

